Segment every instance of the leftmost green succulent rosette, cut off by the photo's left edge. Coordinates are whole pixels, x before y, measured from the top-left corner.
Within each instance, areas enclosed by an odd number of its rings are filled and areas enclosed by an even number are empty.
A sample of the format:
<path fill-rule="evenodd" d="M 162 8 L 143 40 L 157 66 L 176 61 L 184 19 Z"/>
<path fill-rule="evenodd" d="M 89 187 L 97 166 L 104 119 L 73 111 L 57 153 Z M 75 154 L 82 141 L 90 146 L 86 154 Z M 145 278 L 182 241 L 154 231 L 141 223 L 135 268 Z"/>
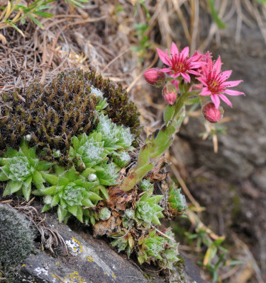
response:
<path fill-rule="evenodd" d="M 0 181 L 9 181 L 3 196 L 22 192 L 26 200 L 31 195 L 31 185 L 40 189 L 45 180 L 41 171 L 47 171 L 52 163 L 40 161 L 36 156 L 35 147 L 29 148 L 25 140 L 19 151 L 8 148 L 3 158 L 0 158 Z"/>

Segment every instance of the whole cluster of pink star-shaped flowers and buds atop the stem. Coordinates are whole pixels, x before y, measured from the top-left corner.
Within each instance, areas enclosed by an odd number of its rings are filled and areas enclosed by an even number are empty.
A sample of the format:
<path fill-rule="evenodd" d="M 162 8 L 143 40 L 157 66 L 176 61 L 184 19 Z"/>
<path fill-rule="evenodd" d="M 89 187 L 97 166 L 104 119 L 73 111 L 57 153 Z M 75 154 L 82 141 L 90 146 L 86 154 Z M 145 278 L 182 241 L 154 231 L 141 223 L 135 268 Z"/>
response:
<path fill-rule="evenodd" d="M 228 81 L 232 71 L 221 71 L 221 58 L 213 60 L 210 52 L 203 54 L 196 51 L 189 57 L 189 47 L 184 47 L 179 52 L 177 45 L 173 42 L 170 55 L 167 50 L 163 52 L 159 48 L 157 48 L 157 53 L 167 67 L 148 69 L 143 76 L 148 83 L 155 86 L 163 86 L 166 83 L 162 95 L 170 105 L 175 103 L 179 92 L 184 93 L 185 91 L 190 92 L 191 96 L 199 96 L 201 104 L 206 103 L 206 97 L 210 97 L 214 104 L 208 104 L 208 107 L 205 107 L 202 112 L 209 122 L 218 122 L 223 114 L 220 99 L 232 107 L 226 95 L 245 95 L 243 92 L 228 89 L 238 86 L 241 80 Z M 165 74 L 165 77 L 162 73 Z M 184 89 L 184 85 L 187 85 L 187 88 Z"/>

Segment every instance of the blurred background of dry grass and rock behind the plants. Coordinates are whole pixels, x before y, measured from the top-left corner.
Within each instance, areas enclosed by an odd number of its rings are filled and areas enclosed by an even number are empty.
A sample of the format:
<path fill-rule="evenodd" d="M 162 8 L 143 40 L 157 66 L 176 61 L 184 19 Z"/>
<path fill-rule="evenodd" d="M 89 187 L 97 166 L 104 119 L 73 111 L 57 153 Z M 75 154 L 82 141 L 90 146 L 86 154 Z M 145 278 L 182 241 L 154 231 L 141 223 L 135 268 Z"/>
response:
<path fill-rule="evenodd" d="M 19 1 L 18 1 L 19 2 Z M 30 4 L 31 1 L 22 1 Z M 54 1 L 38 21 L 0 19 L 0 90 L 41 83 L 60 71 L 95 69 L 121 83 L 138 105 L 143 137 L 162 125 L 161 90 L 142 77 L 162 67 L 156 47 L 221 55 L 243 79 L 233 108 L 210 125 L 190 108 L 167 160 L 182 187 L 187 218 L 172 221 L 179 250 L 213 282 L 266 280 L 266 1 Z M 83 2 L 83 1 L 77 1 Z M 6 1 L 0 1 L 5 7 Z M 26 13 L 26 11 L 24 11 Z"/>

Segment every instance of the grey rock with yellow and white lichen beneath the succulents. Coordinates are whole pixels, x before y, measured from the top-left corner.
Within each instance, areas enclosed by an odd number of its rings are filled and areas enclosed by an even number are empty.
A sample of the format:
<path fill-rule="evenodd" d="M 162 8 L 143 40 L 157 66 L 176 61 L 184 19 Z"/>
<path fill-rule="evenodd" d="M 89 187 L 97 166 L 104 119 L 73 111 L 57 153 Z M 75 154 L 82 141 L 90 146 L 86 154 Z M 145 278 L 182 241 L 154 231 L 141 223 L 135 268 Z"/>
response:
<path fill-rule="evenodd" d="M 46 219 L 46 222 L 53 229 L 57 229 L 64 238 L 69 255 L 66 251 L 55 256 L 38 250 L 36 254 L 31 254 L 23 261 L 16 283 L 165 282 L 164 279 L 155 276 L 155 273 L 144 274 L 140 267 L 133 265 L 133 261 L 126 258 L 126 255 L 118 255 L 107 243 L 93 238 L 90 233 L 72 231 L 66 224 L 59 224 L 55 214 L 48 213 Z M 172 282 L 205 282 L 201 279 L 199 270 L 187 259 L 185 265 L 181 261 L 177 269 L 171 275 Z"/>

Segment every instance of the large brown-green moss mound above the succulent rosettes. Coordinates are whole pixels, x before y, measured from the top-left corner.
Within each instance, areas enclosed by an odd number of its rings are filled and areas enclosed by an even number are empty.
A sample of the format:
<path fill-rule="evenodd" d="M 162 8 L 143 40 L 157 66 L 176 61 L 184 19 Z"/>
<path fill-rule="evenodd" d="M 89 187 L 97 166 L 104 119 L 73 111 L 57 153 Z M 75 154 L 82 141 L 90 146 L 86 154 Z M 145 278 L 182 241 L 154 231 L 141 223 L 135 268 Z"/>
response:
<path fill-rule="evenodd" d="M 0 150 L 7 146 L 17 149 L 26 136 L 38 148 L 45 148 L 48 156 L 60 152 L 64 161 L 71 138 L 95 127 L 96 105 L 102 99 L 95 89 L 109 103 L 105 112 L 112 122 L 130 127 L 134 137 L 138 137 L 139 113 L 134 103 L 128 102 L 121 85 L 103 80 L 94 71 L 74 70 L 59 74 L 48 85 L 36 81 L 26 91 L 16 89 L 12 94 L 3 94 Z"/>

